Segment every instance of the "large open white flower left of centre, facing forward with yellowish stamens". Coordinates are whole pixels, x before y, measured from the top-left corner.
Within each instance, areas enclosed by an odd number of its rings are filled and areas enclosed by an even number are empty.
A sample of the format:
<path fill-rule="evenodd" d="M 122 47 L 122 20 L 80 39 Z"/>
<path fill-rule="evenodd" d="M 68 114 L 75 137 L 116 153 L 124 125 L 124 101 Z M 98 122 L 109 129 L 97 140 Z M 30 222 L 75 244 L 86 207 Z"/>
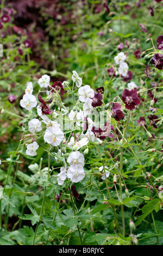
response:
<path fill-rule="evenodd" d="M 51 144 L 53 147 L 57 147 L 63 141 L 64 133 L 58 127 L 49 126 L 43 138 L 45 142 Z"/>

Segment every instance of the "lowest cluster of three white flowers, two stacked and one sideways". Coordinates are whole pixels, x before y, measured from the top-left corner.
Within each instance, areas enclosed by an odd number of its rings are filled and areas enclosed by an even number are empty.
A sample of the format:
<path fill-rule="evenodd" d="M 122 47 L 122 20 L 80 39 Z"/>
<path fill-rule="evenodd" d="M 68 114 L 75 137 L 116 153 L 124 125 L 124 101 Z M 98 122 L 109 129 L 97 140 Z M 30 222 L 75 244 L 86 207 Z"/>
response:
<path fill-rule="evenodd" d="M 65 167 L 60 168 L 60 173 L 58 176 L 58 184 L 64 184 L 66 178 L 70 179 L 72 182 L 79 182 L 84 179 L 84 155 L 79 151 L 72 152 L 67 159 L 70 167 L 67 169 L 67 164 Z"/>

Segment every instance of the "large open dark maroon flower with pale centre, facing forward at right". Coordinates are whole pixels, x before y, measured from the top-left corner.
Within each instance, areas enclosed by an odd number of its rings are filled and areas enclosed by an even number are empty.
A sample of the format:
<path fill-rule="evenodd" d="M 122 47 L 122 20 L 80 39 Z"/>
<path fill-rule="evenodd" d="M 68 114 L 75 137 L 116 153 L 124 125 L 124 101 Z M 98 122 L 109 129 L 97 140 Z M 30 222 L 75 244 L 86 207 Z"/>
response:
<path fill-rule="evenodd" d="M 124 89 L 122 93 L 122 100 L 126 104 L 125 107 L 130 110 L 134 109 L 135 106 L 140 104 L 140 99 L 136 90 Z"/>

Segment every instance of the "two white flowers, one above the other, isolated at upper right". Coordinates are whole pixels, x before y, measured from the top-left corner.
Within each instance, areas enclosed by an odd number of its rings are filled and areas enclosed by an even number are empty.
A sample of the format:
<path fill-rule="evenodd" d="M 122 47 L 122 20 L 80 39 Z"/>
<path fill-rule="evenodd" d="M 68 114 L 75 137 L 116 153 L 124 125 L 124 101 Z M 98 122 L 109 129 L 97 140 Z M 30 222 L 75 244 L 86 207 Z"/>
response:
<path fill-rule="evenodd" d="M 120 52 L 117 54 L 117 56 L 114 57 L 115 63 L 119 65 L 118 72 L 120 75 L 126 77 L 128 73 L 128 64 L 124 62 L 126 60 L 126 55 L 123 52 Z"/>

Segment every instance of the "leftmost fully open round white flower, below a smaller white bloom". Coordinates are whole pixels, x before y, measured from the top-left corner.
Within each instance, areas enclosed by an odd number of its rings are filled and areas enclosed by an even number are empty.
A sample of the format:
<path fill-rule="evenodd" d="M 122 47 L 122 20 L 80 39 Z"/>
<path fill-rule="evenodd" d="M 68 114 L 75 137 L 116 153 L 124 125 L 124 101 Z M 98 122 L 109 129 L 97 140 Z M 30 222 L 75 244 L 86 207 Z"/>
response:
<path fill-rule="evenodd" d="M 33 107 L 37 106 L 36 97 L 32 94 L 24 94 L 23 99 L 20 101 L 20 105 L 27 110 L 32 110 Z"/>

